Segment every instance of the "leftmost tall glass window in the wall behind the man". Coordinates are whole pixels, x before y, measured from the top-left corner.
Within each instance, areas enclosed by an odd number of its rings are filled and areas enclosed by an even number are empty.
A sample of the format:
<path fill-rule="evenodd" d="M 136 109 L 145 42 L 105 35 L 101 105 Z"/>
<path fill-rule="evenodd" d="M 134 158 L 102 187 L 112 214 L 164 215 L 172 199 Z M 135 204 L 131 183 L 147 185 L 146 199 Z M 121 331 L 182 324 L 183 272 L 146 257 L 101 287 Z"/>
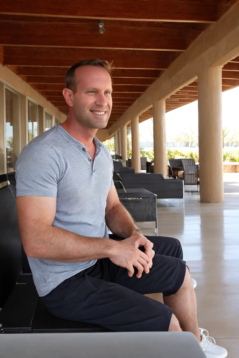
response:
<path fill-rule="evenodd" d="M 6 96 L 6 162 L 7 173 L 15 171 L 18 150 L 19 129 L 19 97 L 9 89 L 5 89 Z"/>

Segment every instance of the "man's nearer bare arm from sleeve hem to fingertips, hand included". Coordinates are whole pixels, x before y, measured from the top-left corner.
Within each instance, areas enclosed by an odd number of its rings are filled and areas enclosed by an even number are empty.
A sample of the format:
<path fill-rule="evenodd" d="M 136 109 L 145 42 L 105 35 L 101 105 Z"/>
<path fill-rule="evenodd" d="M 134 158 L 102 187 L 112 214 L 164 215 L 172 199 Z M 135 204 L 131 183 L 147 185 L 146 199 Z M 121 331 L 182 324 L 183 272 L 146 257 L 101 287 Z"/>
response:
<path fill-rule="evenodd" d="M 17 197 L 21 240 L 29 257 L 62 262 L 81 262 L 109 257 L 137 277 L 148 270 L 148 256 L 130 240 L 87 237 L 52 226 L 56 214 L 56 199 L 49 197 Z"/>

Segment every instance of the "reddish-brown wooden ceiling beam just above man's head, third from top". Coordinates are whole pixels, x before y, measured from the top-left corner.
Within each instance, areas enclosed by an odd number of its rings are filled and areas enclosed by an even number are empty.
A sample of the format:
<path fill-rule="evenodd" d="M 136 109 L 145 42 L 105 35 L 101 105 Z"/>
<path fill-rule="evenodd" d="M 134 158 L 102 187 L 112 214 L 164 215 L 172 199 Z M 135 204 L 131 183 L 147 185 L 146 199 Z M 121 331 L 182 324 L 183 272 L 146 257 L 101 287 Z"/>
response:
<path fill-rule="evenodd" d="M 114 61 L 116 68 L 165 69 L 181 52 L 100 50 L 58 47 L 4 46 L 4 63 L 11 66 L 72 66 L 89 58 Z"/>

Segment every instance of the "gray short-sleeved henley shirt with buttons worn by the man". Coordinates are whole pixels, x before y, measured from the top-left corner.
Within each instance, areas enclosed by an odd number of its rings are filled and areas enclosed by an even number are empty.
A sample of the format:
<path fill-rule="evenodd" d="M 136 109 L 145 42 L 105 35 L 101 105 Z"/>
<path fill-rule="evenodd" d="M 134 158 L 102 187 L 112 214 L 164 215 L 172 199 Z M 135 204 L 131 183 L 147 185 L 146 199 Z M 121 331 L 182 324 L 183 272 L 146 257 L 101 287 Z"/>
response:
<path fill-rule="evenodd" d="M 94 162 L 85 146 L 60 125 L 34 138 L 16 163 L 16 196 L 56 198 L 53 226 L 89 237 L 109 237 L 106 198 L 114 185 L 113 161 L 107 147 L 94 138 Z M 57 240 L 57 238 L 56 238 Z M 60 262 L 28 257 L 39 296 L 94 265 L 96 260 Z"/>

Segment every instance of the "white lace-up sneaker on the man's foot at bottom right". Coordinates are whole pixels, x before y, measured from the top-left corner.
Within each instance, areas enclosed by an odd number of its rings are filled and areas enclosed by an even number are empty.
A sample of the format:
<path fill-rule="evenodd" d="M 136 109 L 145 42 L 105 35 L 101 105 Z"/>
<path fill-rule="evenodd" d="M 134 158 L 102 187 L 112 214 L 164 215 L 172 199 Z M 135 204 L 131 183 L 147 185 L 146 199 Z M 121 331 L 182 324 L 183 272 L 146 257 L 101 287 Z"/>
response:
<path fill-rule="evenodd" d="M 199 328 L 201 335 L 201 342 L 199 343 L 206 354 L 207 358 L 225 358 L 228 355 L 228 352 L 225 348 L 216 345 L 215 339 L 209 337 L 206 329 Z M 205 334 L 206 333 L 206 334 Z"/>

